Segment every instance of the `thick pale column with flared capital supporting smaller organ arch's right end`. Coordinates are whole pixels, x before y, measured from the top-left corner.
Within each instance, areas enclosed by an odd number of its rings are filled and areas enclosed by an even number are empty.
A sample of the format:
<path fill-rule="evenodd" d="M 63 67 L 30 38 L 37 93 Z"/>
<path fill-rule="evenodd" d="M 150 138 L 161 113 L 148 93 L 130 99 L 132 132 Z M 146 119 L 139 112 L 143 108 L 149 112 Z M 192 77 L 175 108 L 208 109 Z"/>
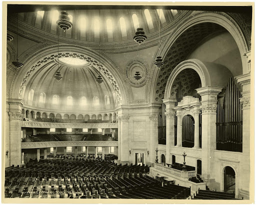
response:
<path fill-rule="evenodd" d="M 222 87 L 206 86 L 197 88 L 197 93 L 201 96 L 202 110 L 202 178 L 210 187 L 214 182 L 214 150 L 216 150 L 216 110 L 217 95 Z"/>

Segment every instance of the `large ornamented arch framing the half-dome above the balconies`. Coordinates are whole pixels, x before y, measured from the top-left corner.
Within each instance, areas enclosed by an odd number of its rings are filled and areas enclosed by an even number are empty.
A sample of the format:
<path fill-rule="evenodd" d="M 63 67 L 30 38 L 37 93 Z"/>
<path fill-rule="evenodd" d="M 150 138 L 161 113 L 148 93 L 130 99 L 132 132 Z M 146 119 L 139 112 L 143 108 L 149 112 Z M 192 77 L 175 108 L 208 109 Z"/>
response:
<path fill-rule="evenodd" d="M 36 49 L 36 48 L 31 48 L 33 49 L 33 52 L 31 53 L 30 57 L 27 58 L 26 55 L 20 56 L 22 58 L 22 62 L 24 66 L 22 69 L 17 70 L 14 74 L 14 77 L 12 80 L 15 80 L 15 83 L 11 82 L 10 85 L 10 90 L 13 92 L 10 93 L 11 98 L 19 98 L 20 97 L 20 92 L 22 91 L 22 88 L 26 82 L 26 79 L 28 79 L 28 76 L 30 74 L 34 74 L 36 70 L 38 69 L 32 69 L 32 66 L 35 64 L 42 64 L 46 62 L 46 60 L 43 60 L 46 56 L 45 53 L 47 53 L 47 56 L 50 55 L 56 55 L 57 54 L 57 46 L 56 45 L 51 45 L 48 47 L 45 47 L 43 49 Z M 36 49 L 36 50 L 35 50 Z M 76 53 L 81 53 L 83 55 L 88 55 L 93 62 L 98 62 L 98 53 L 95 52 L 94 50 L 90 50 L 88 48 L 78 46 L 78 45 L 59 45 L 59 52 L 76 52 Z M 123 85 L 123 79 L 122 79 L 122 71 L 119 69 L 119 67 L 106 55 L 102 55 L 101 57 L 101 63 L 103 65 L 103 68 L 108 70 L 108 74 L 106 75 L 106 79 L 109 78 L 109 76 L 112 78 L 111 84 L 115 83 L 114 90 L 115 92 L 118 93 L 119 96 L 119 103 L 118 104 L 126 104 L 126 94 L 125 94 L 125 87 Z M 38 65 L 37 65 L 38 66 Z M 40 65 L 39 65 L 40 66 Z M 104 73 L 104 72 L 103 72 Z M 105 75 L 105 74 L 103 74 Z M 7 88 L 8 89 L 8 88 Z"/>

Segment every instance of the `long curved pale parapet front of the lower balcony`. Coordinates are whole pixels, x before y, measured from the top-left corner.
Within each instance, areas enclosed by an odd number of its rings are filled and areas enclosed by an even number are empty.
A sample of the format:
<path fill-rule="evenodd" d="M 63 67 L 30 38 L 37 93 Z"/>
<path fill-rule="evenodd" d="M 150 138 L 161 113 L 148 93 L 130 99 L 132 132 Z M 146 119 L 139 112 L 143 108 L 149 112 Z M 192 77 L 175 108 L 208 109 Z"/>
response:
<path fill-rule="evenodd" d="M 118 147 L 118 141 L 56 141 L 56 142 L 22 142 L 22 149 L 49 148 L 49 147 Z"/>

